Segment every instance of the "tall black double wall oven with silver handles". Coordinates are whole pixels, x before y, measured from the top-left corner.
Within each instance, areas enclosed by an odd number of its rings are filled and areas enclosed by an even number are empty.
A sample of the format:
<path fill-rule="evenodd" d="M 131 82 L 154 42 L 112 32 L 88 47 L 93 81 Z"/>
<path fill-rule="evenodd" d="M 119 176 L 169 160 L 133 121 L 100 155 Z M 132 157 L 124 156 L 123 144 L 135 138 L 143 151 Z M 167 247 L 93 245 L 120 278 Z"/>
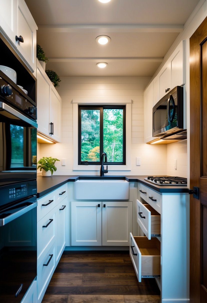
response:
<path fill-rule="evenodd" d="M 0 72 L 0 302 L 20 303 L 37 272 L 36 106 Z"/>

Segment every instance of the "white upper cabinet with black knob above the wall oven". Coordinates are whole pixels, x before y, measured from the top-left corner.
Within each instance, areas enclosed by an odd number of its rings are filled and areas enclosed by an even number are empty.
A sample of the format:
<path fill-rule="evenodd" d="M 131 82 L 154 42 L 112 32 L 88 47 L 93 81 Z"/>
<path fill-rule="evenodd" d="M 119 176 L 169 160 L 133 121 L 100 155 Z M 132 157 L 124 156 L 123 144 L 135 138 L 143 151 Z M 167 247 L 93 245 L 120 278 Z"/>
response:
<path fill-rule="evenodd" d="M 29 69 L 36 68 L 37 26 L 24 0 L 0 0 L 0 30 Z M 22 38 L 24 42 L 22 41 Z M 18 40 L 19 39 L 19 40 Z"/>

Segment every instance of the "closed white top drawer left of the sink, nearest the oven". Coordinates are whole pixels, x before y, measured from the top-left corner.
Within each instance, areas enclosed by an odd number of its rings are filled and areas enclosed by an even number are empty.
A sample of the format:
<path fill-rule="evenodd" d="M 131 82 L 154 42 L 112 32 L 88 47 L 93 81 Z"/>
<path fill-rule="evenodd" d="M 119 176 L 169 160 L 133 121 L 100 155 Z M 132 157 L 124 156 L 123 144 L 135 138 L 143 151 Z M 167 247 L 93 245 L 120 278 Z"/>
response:
<path fill-rule="evenodd" d="M 37 222 L 41 220 L 46 214 L 56 206 L 55 192 L 52 191 L 50 194 L 37 200 Z"/>

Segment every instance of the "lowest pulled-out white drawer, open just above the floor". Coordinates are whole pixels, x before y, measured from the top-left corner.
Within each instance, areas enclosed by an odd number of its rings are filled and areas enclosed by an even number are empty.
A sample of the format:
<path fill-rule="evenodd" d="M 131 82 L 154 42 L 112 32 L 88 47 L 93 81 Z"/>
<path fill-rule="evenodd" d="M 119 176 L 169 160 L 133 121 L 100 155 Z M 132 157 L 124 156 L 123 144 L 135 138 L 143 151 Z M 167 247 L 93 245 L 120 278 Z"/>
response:
<path fill-rule="evenodd" d="M 129 251 L 137 279 L 160 276 L 160 241 L 155 237 L 133 237 L 130 233 Z"/>

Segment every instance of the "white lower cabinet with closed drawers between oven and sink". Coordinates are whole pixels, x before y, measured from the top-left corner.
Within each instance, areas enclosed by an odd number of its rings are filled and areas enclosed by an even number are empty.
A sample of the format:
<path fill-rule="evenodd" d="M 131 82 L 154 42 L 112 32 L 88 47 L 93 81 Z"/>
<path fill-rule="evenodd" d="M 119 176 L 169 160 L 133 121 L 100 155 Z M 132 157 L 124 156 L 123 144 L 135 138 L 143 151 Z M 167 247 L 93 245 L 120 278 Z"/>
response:
<path fill-rule="evenodd" d="M 67 184 L 38 199 L 37 302 L 40 303 L 66 244 Z"/>

